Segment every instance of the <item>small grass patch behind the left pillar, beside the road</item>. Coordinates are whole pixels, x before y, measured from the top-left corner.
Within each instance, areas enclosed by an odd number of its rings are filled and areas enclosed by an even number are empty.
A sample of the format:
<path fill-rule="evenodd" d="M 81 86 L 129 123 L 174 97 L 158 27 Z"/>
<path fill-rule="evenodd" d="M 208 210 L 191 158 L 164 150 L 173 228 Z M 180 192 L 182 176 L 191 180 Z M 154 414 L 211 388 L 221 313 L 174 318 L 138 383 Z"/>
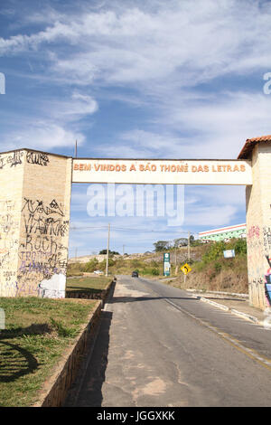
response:
<path fill-rule="evenodd" d="M 98 293 L 107 288 L 107 285 L 112 281 L 112 278 L 105 276 L 84 277 L 84 278 L 69 278 L 67 279 L 67 288 L 69 291 L 92 292 Z"/>

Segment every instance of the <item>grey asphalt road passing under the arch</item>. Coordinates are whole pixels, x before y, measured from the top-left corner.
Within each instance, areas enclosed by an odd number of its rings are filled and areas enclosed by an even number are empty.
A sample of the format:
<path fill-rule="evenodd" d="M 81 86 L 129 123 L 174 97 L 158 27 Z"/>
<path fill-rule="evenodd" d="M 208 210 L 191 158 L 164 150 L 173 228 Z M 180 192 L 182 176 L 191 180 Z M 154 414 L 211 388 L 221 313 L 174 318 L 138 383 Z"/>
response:
<path fill-rule="evenodd" d="M 117 278 L 65 406 L 271 406 L 271 330 L 158 281 Z"/>

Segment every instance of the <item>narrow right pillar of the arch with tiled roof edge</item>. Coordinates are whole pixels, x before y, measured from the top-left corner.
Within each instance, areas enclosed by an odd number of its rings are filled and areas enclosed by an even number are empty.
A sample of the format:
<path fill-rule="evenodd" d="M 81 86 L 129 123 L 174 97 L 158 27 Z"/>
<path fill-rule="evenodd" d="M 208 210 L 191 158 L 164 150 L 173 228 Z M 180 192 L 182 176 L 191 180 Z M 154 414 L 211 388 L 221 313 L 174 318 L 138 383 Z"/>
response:
<path fill-rule="evenodd" d="M 271 136 L 248 139 L 239 159 L 252 161 L 246 188 L 249 303 L 271 305 Z"/>

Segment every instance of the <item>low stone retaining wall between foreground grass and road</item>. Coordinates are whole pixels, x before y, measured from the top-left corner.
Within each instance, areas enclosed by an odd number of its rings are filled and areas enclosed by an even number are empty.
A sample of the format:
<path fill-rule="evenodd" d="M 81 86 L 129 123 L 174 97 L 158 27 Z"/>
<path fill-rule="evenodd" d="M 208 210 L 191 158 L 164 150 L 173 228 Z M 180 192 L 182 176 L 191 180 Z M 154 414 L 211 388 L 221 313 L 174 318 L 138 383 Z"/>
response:
<path fill-rule="evenodd" d="M 56 366 L 48 382 L 45 382 L 39 401 L 33 404 L 33 407 L 61 407 L 76 378 L 81 355 L 84 354 L 89 337 L 98 323 L 102 304 L 103 301 L 98 301 L 95 311 L 89 315 L 88 325 L 82 329 L 75 343 L 62 354 L 61 362 Z"/>

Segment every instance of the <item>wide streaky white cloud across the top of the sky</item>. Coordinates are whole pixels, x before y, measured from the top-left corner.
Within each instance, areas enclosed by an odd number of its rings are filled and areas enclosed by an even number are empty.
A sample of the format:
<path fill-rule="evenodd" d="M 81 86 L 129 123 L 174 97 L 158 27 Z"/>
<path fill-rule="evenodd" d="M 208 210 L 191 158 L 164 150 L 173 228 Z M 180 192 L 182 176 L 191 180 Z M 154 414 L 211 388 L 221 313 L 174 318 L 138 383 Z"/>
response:
<path fill-rule="evenodd" d="M 54 72 L 89 84 L 152 84 L 179 87 L 269 66 L 271 5 L 252 0 L 121 2 L 93 12 L 48 15 L 38 33 L 0 39 L 2 54 L 42 45 Z M 120 5 L 120 6 L 119 6 Z M 155 7 L 155 10 L 154 10 Z M 33 17 L 35 14 L 33 14 Z M 215 41 L 215 42 L 214 42 Z M 65 54 L 57 43 L 66 43 Z"/>

